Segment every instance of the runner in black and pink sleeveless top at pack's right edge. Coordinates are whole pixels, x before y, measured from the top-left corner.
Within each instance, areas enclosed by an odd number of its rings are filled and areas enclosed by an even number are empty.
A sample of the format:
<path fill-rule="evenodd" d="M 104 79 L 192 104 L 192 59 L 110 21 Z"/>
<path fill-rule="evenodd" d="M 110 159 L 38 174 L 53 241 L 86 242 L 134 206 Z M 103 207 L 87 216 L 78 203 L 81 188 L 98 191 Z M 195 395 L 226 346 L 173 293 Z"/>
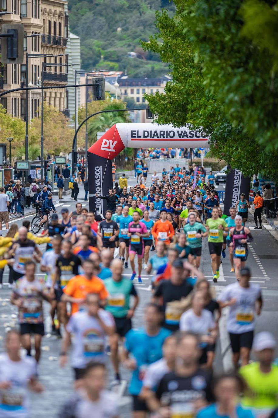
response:
<path fill-rule="evenodd" d="M 230 237 L 233 240 L 230 246 L 233 247 L 233 262 L 235 265 L 235 277 L 239 280 L 239 272 L 245 267 L 248 257 L 247 242 L 252 242 L 253 237 L 247 227 L 242 226 L 243 219 L 237 215 L 235 217 L 235 227 L 230 229 Z"/>

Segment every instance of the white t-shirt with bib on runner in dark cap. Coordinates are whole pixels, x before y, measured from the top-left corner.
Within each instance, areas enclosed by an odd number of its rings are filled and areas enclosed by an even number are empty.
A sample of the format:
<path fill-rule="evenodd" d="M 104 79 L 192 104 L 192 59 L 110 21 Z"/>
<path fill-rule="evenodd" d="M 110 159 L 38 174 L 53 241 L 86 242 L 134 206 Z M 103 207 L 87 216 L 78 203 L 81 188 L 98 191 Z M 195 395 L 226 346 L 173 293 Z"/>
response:
<path fill-rule="evenodd" d="M 243 288 L 238 282 L 226 286 L 219 296 L 219 301 L 224 303 L 234 298 L 236 300 L 230 306 L 227 319 L 228 332 L 243 334 L 254 330 L 255 302 L 260 297 L 260 286 L 255 283 L 249 283 L 248 288 Z"/>

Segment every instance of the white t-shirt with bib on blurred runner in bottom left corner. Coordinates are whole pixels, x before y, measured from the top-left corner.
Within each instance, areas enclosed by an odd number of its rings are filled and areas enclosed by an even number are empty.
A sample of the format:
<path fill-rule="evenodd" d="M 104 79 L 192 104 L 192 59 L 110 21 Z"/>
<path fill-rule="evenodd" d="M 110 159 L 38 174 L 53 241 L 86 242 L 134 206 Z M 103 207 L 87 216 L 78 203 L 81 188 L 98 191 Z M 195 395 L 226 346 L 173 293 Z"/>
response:
<path fill-rule="evenodd" d="M 36 362 L 32 357 L 26 356 L 14 362 L 7 353 L 0 355 L 0 382 L 11 382 L 10 389 L 0 390 L 1 418 L 30 417 L 28 384 L 36 372 Z"/>

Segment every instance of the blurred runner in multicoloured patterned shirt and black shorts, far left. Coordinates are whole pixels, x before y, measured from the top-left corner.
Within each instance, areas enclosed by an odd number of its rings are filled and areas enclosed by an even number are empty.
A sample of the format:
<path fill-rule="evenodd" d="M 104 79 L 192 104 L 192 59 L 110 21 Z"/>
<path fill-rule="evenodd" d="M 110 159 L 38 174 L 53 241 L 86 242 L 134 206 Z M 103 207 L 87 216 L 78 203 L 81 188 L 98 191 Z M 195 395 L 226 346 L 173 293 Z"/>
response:
<path fill-rule="evenodd" d="M 28 356 L 31 355 L 31 334 L 34 334 L 35 359 L 38 363 L 44 335 L 43 300 L 51 302 L 51 298 L 43 278 L 35 278 L 35 268 L 34 261 L 25 262 L 25 275 L 15 281 L 10 301 L 18 306 L 22 345 Z"/>

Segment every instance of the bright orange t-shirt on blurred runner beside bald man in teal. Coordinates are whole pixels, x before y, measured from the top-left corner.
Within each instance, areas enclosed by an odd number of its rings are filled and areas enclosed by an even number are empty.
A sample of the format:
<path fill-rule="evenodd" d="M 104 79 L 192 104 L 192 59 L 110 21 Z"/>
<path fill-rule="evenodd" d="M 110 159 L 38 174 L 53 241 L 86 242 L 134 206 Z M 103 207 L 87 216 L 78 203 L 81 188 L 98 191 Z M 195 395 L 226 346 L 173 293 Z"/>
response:
<path fill-rule="evenodd" d="M 98 293 L 100 299 L 108 297 L 108 291 L 105 288 L 103 280 L 97 276 L 92 276 L 91 280 L 88 280 L 81 274 L 70 279 L 68 284 L 63 288 L 63 292 L 77 299 L 85 298 L 88 293 Z M 78 303 L 72 303 L 72 314 L 78 311 Z"/>

